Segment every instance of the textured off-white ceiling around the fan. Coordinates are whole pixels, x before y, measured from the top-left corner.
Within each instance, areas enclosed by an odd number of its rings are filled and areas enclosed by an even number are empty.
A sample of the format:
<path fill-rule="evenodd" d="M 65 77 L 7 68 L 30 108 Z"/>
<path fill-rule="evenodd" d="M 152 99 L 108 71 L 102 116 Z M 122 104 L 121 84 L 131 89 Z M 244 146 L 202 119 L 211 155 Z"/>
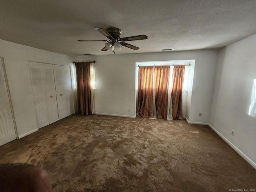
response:
<path fill-rule="evenodd" d="M 108 40 L 94 30 L 117 27 L 122 37 L 145 34 L 116 54 L 215 49 L 256 33 L 255 0 L 1 0 L 0 39 L 77 56 Z"/>

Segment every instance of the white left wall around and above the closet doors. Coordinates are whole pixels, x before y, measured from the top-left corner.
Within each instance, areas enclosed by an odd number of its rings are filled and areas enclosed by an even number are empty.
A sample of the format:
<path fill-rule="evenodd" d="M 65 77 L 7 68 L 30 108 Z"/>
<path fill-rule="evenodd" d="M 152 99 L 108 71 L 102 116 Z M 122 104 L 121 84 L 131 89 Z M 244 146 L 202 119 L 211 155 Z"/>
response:
<path fill-rule="evenodd" d="M 70 59 L 4 40 L 0 40 L 0 56 L 4 58 L 18 136 L 21 138 L 38 130 L 28 60 L 70 65 Z"/>

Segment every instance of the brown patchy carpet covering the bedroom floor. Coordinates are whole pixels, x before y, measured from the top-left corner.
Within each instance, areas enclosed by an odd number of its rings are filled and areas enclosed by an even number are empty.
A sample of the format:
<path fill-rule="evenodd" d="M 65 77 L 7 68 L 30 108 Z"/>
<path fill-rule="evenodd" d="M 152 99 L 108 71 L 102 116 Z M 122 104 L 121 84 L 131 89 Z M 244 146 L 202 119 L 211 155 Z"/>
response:
<path fill-rule="evenodd" d="M 54 192 L 256 190 L 256 170 L 208 126 L 72 115 L 0 147 L 0 163 L 45 168 Z"/>

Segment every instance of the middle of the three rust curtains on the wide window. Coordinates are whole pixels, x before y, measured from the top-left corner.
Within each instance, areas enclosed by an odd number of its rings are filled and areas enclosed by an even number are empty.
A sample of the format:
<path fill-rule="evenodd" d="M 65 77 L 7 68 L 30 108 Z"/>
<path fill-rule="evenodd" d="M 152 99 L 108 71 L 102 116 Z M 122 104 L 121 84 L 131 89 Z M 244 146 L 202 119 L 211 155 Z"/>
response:
<path fill-rule="evenodd" d="M 155 66 L 154 90 L 156 118 L 167 119 L 170 66 Z"/>

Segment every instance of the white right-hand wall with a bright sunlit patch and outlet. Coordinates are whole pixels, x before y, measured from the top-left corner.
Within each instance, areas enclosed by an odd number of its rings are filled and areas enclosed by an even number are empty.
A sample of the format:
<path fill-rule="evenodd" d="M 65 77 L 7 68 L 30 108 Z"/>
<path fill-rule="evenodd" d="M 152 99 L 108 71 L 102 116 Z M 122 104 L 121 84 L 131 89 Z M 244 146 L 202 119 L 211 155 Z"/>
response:
<path fill-rule="evenodd" d="M 248 115 L 248 109 L 256 79 L 255 44 L 256 34 L 220 50 L 209 120 L 236 151 L 254 162 L 254 167 L 256 118 Z"/>

